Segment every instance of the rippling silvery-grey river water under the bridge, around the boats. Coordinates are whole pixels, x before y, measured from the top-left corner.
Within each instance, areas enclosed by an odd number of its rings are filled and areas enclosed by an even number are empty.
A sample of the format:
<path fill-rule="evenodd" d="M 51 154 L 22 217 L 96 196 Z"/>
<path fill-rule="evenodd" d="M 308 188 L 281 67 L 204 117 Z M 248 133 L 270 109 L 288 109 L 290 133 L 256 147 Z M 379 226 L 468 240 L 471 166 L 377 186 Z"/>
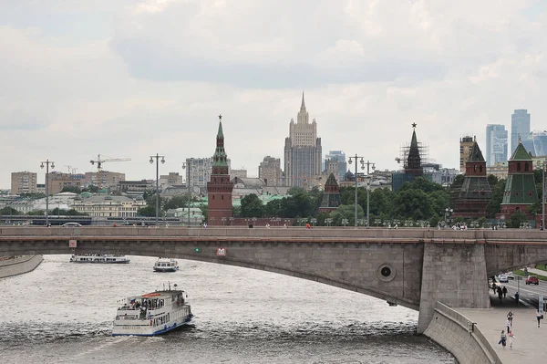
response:
<path fill-rule="evenodd" d="M 414 335 L 418 312 L 333 286 L 227 265 L 155 258 L 129 265 L 45 255 L 35 271 L 0 279 L 1 363 L 454 363 Z M 157 338 L 110 336 L 117 302 L 170 281 L 193 325 Z"/>

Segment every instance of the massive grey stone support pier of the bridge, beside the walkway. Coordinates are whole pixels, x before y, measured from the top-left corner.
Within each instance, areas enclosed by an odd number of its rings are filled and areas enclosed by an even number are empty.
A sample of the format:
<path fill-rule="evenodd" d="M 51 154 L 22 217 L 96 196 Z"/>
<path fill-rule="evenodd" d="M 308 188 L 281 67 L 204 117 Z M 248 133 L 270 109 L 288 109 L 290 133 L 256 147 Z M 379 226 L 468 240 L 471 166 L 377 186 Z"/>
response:
<path fill-rule="evenodd" d="M 428 328 L 436 302 L 490 308 L 484 244 L 425 244 L 418 334 Z"/>

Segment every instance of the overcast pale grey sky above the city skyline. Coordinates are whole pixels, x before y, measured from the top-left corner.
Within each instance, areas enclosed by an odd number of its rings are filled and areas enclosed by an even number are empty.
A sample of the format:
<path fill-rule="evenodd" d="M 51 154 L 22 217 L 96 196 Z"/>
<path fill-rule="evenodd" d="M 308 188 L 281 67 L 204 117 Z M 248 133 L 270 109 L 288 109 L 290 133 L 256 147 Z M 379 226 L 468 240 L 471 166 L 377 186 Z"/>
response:
<path fill-rule="evenodd" d="M 541 0 L 0 0 L 0 188 L 11 172 L 182 172 L 211 157 L 218 115 L 232 168 L 258 175 L 302 91 L 323 154 L 397 169 L 411 124 L 430 159 L 459 167 L 459 138 L 547 129 Z M 511 134 L 511 131 L 510 131 Z"/>

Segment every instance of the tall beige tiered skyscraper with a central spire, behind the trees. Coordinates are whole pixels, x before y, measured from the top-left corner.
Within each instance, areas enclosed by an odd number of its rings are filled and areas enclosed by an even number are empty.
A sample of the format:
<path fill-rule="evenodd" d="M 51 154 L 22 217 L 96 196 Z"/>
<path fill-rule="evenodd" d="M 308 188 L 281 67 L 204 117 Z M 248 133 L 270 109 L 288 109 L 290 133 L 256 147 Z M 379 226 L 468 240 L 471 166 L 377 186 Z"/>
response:
<path fill-rule="evenodd" d="M 321 174 L 321 138 L 317 138 L 315 119 L 310 123 L 305 109 L 304 92 L 300 111 L 289 124 L 289 137 L 285 138 L 285 185 L 306 188 L 307 179 Z"/>

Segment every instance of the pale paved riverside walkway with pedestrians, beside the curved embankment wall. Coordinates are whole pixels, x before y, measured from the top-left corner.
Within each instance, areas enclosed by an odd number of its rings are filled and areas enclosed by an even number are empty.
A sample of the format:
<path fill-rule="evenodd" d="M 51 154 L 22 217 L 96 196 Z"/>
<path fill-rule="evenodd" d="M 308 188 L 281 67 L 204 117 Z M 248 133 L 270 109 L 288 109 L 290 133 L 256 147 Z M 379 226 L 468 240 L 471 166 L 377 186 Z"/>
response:
<path fill-rule="evenodd" d="M 503 298 L 500 302 L 490 290 L 491 308 L 454 308 L 461 315 L 476 322 L 482 335 L 496 350 L 503 364 L 517 364 L 521 362 L 542 362 L 547 349 L 547 317 L 542 320 L 541 328 L 538 328 L 535 307 L 517 307 L 514 297 Z M 503 349 L 498 345 L 501 330 L 506 330 L 507 313 L 514 313 L 512 331 L 515 335 L 513 348 L 508 346 Z"/>

